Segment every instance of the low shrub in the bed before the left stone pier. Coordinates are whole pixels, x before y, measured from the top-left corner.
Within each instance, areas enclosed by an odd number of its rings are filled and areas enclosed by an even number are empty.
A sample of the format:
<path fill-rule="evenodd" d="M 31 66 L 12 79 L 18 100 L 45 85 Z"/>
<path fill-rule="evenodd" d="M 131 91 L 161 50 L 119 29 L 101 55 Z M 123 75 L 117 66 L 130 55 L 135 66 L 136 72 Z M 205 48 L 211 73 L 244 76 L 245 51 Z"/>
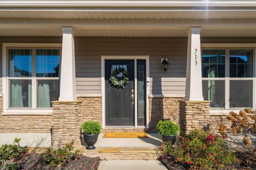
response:
<path fill-rule="evenodd" d="M 45 162 L 49 163 L 51 166 L 61 166 L 66 164 L 70 159 L 76 159 L 79 150 L 74 150 L 75 147 L 74 140 L 67 143 L 65 147 L 53 150 L 52 148 L 47 148 L 46 154 L 44 154 Z"/>

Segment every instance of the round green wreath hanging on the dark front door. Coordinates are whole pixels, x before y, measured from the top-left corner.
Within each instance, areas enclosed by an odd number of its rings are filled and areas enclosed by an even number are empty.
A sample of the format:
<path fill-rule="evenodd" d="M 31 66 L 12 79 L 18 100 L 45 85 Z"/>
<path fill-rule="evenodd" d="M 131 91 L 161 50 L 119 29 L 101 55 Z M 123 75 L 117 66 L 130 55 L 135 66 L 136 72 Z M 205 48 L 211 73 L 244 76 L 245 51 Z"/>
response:
<path fill-rule="evenodd" d="M 123 80 L 118 80 L 117 75 L 119 73 L 123 74 Z M 114 86 L 116 88 L 124 88 L 127 82 L 129 81 L 129 75 L 127 71 L 125 71 L 124 68 L 118 67 L 118 69 L 115 69 L 112 74 L 110 75 L 109 83 L 111 86 Z"/>

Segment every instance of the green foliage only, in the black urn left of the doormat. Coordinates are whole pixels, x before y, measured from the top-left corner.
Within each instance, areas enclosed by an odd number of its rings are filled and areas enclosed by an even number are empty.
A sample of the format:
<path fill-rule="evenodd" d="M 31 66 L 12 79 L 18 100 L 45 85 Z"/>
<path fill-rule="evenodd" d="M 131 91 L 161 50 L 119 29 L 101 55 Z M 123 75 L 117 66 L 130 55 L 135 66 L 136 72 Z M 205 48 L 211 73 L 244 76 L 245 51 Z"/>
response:
<path fill-rule="evenodd" d="M 101 126 L 99 122 L 88 121 L 82 125 L 82 132 L 84 134 L 99 134 Z"/>

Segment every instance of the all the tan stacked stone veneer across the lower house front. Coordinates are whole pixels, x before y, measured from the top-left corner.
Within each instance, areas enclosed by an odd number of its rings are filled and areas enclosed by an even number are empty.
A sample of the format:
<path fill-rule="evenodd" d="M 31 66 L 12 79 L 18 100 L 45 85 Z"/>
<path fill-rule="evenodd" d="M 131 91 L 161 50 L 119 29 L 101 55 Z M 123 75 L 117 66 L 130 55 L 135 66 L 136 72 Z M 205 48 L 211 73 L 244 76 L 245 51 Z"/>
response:
<path fill-rule="evenodd" d="M 209 113 L 209 101 L 185 101 L 181 98 L 150 97 L 149 129 L 103 129 L 119 132 L 154 132 L 159 120 L 173 120 L 180 124 L 181 133 L 189 133 L 194 128 L 210 125 L 210 130 L 218 132 L 219 125 L 225 124 L 228 113 Z M 75 140 L 81 144 L 81 124 L 85 121 L 102 124 L 102 97 L 78 97 L 75 102 L 53 102 L 52 115 L 3 114 L 3 96 L 0 96 L 0 133 L 51 133 L 52 146 L 60 147 Z"/>

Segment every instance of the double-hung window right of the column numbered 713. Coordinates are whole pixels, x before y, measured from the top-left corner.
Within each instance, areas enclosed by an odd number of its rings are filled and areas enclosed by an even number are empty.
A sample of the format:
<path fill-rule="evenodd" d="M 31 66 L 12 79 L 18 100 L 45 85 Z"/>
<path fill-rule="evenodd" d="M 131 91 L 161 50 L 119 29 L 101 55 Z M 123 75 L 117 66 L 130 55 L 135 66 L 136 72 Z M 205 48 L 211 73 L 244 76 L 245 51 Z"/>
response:
<path fill-rule="evenodd" d="M 253 49 L 202 50 L 203 97 L 212 108 L 253 107 Z"/>

